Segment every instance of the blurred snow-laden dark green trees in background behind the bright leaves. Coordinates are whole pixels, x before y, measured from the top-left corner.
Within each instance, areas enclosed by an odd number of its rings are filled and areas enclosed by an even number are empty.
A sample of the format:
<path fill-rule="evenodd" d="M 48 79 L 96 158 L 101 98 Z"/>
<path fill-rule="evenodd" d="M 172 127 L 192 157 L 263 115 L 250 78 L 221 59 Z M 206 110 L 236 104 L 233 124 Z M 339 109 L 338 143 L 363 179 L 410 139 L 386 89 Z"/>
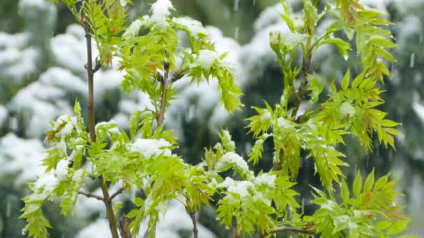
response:
<path fill-rule="evenodd" d="M 144 15 L 151 1 L 134 1 L 130 18 Z M 247 156 L 252 138 L 246 135 L 244 118 L 252 116 L 250 106 L 262 106 L 264 100 L 275 104 L 280 100 L 283 77 L 268 45 L 268 33 L 274 29 L 284 32 L 286 26 L 279 12 L 278 0 L 174 0 L 179 9 L 176 15 L 198 19 L 216 42 L 218 49 L 230 51 L 227 61 L 232 63 L 239 84 L 243 88 L 243 112 L 234 116 L 225 113 L 218 104 L 219 97 L 211 86 L 199 89 L 188 87 L 179 92 L 179 99 L 167 112 L 167 127 L 176 129 L 180 138 L 179 154 L 193 164 L 201 160 L 204 148 L 218 141 L 216 132 L 228 128 L 236 141 L 239 154 Z M 300 9 L 300 0 L 290 0 L 292 8 Z M 365 5 L 386 12 L 395 22 L 391 30 L 399 47 L 395 49 L 398 61 L 390 65 L 392 79 L 385 81 L 386 103 L 383 111 L 388 118 L 402 122 L 402 132 L 396 141 L 397 150 L 386 149 L 374 143 L 374 153 L 366 154 L 359 145 L 347 138 L 342 150 L 355 168 L 347 173 L 351 180 L 356 168 L 370 172 L 378 168 L 377 176 L 392 171 L 393 177 L 402 177 L 400 189 L 407 195 L 400 203 L 407 204 L 413 221 L 411 231 L 423 235 L 420 226 L 424 219 L 424 1 L 386 0 L 363 1 Z M 84 32 L 73 24 L 72 15 L 64 6 L 54 6 L 44 0 L 0 1 L 0 237 L 22 237 L 23 221 L 17 219 L 23 205 L 20 198 L 27 193 L 24 183 L 33 180 L 42 169 L 38 165 L 43 150 L 44 130 L 49 120 L 61 113 L 70 113 L 75 97 L 85 104 Z M 321 23 L 323 26 L 326 21 Z M 324 29 L 324 28 L 323 28 Z M 318 29 L 319 31 L 319 29 Z M 183 37 L 183 36 L 182 36 Z M 322 48 L 312 58 L 312 67 L 319 79 L 340 79 L 347 67 L 358 67 L 355 55 L 347 63 L 333 47 Z M 122 74 L 112 68 L 103 68 L 96 77 L 96 121 L 116 120 L 121 127 L 131 111 L 142 109 L 149 99 L 142 93 L 125 95 L 118 85 Z M 355 72 L 356 73 L 356 72 Z M 181 83 L 183 88 L 184 83 Z M 85 109 L 84 109 L 85 110 Z M 86 111 L 84 111 L 86 113 Z M 377 138 L 374 138 L 377 140 Z M 264 159 L 259 167 L 271 166 L 272 145 L 264 148 Z M 307 184 L 320 187 L 313 175 L 314 165 L 302 161 L 298 189 Z M 402 184 L 404 186 L 402 186 Z M 92 189 L 96 189 L 93 187 Z M 303 193 L 304 194 L 304 193 Z M 122 198 L 125 200 L 125 198 Z M 310 197 L 301 198 L 305 212 L 313 209 Z M 52 237 L 89 237 L 87 225 L 101 222 L 104 216 L 95 201 L 81 198 L 75 218 L 47 216 L 54 221 Z M 227 230 L 218 225 L 213 209 L 204 207 L 199 221 L 216 237 L 227 236 Z M 85 230 L 82 230 L 86 228 Z M 82 231 L 80 231 L 82 230 Z M 190 232 L 179 228 L 174 233 L 188 237 Z M 101 234 L 97 234 L 100 235 Z"/>

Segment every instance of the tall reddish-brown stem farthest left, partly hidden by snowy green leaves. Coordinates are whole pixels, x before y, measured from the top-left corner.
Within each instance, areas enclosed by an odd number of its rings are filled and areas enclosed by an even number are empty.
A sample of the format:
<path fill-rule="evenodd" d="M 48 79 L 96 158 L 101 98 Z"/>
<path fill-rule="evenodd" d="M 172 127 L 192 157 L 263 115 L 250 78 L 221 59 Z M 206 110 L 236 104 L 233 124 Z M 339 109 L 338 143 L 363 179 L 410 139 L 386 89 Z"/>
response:
<path fill-rule="evenodd" d="M 91 53 L 91 35 L 89 32 L 88 26 L 84 27 L 85 29 L 85 38 L 86 38 L 86 48 L 87 48 L 87 64 L 86 71 L 89 81 L 89 132 L 91 141 L 96 141 L 96 132 L 95 132 L 95 122 L 94 122 L 94 88 L 93 88 L 93 79 L 94 79 L 94 70 L 93 70 L 93 55 Z M 103 203 L 105 203 L 107 211 L 107 219 L 109 220 L 109 228 L 112 233 L 113 238 L 119 238 L 118 230 L 116 226 L 116 219 L 114 214 L 114 209 L 112 207 L 112 201 L 109 200 L 109 190 L 107 184 L 103 179 L 103 176 L 100 176 L 100 183 L 103 192 Z"/>

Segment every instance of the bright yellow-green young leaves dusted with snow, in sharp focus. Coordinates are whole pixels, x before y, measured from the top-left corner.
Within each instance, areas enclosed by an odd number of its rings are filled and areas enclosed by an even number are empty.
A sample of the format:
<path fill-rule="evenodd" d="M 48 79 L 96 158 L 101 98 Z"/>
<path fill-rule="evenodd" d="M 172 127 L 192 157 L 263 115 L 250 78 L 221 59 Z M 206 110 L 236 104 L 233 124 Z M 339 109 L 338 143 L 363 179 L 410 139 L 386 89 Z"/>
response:
<path fill-rule="evenodd" d="M 399 195 L 393 189 L 397 180 L 389 180 L 388 175 L 376 180 L 373 171 L 364 182 L 358 171 L 349 186 L 343 173 L 349 164 L 337 147 L 345 143 L 346 134 L 356 136 L 366 150 L 372 150 L 374 134 L 380 143 L 394 147 L 393 136 L 400 134 L 395 129 L 399 123 L 376 109 L 384 103 L 379 87 L 390 74 L 385 63 L 395 61 L 389 52 L 395 43 L 386 29 L 391 22 L 383 13 L 358 1 L 303 0 L 303 15 L 295 16 L 281 1 L 280 15 L 290 32 L 271 32 L 269 42 L 284 73 L 280 102 L 254 107 L 257 115 L 247 118 L 248 132 L 256 138 L 248 158 L 237 154 L 231 135 L 223 129 L 220 142 L 205 149 L 204 162 L 192 166 L 173 152 L 177 138 L 164 129 L 163 112 L 175 97 L 175 81 L 211 78 L 218 80 L 225 109 L 241 109 L 241 90 L 231 68 L 222 62 L 226 54 L 215 51 L 200 22 L 172 17 L 169 0 L 156 1 L 150 15 L 134 22 L 127 19 L 130 0 L 61 2 L 89 29 L 100 51 L 97 63 L 110 65 L 112 58 L 119 59 L 119 69 L 126 72 L 121 88 L 127 93 L 142 90 L 153 109 L 132 113 L 128 132 L 113 121 L 98 123 L 96 141 L 90 139 L 78 102 L 74 116 L 52 122 L 45 174 L 29 183 L 33 193 L 24 198 L 21 218 L 27 221 L 24 232 L 30 237 L 48 236 L 51 225 L 41 209 L 46 200 L 59 200 L 62 214 L 73 215 L 79 191 L 97 177 L 122 184 L 124 192 L 144 191 L 144 196 L 132 198 L 135 208 L 124 214 L 134 236 L 142 221 L 149 219 L 146 234 L 154 237 L 160 214 L 174 199 L 190 215 L 213 201 L 221 223 L 239 235 L 266 237 L 294 229 L 304 236 L 389 237 L 406 228 L 409 219 L 394 203 Z M 317 35 L 322 19 L 333 23 Z M 189 47 L 181 46 L 177 31 L 186 33 Z M 322 45 L 334 45 L 345 59 L 356 49 L 362 71 L 352 75 L 347 70 L 342 79 L 324 85 L 311 67 L 312 55 Z M 301 65 L 294 61 L 299 52 Z M 298 113 L 301 103 L 308 105 L 304 113 Z M 267 140 L 274 145 L 273 168 L 255 174 L 250 168 L 262 159 Z M 317 205 L 313 214 L 301 214 L 299 193 L 294 190 L 301 154 L 314 161 L 323 185 L 322 190 L 311 188 L 312 203 Z M 223 177 L 227 170 L 234 176 Z M 118 204 L 114 212 L 119 210 Z"/>

